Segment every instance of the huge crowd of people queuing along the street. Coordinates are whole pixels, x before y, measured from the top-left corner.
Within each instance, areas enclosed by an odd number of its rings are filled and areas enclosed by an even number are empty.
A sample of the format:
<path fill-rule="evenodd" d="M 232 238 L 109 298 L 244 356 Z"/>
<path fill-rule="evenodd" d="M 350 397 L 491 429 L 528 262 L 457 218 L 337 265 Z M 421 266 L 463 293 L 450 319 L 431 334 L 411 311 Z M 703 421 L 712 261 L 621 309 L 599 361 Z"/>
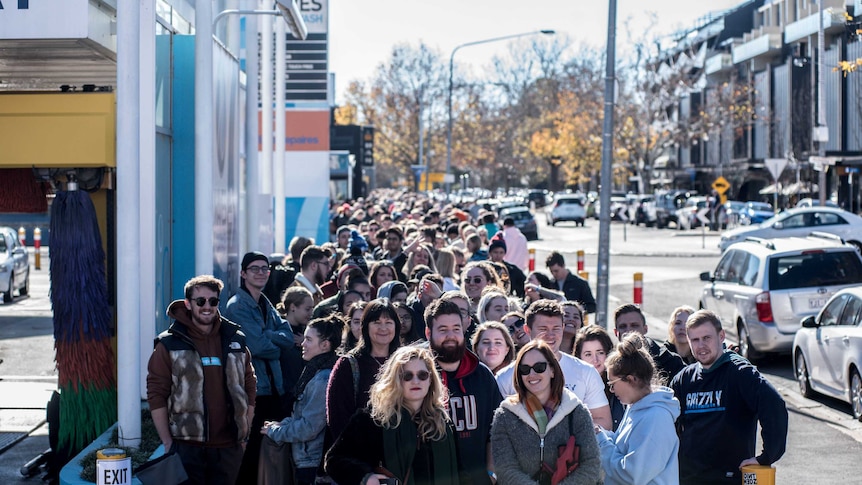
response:
<path fill-rule="evenodd" d="M 147 377 L 189 483 L 719 484 L 781 458 L 784 402 L 717 316 L 679 307 L 665 343 L 632 304 L 585 325 L 588 282 L 557 251 L 529 271 L 501 222 L 379 192 L 332 241 L 247 253 L 224 305 L 191 279 Z"/>

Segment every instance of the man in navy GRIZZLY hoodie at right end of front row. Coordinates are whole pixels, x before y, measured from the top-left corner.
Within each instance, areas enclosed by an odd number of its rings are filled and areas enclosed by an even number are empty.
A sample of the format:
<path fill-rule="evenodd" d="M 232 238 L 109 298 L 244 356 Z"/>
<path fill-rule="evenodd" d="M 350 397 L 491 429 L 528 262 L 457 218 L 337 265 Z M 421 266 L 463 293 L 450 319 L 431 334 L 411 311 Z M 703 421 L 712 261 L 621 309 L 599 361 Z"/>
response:
<path fill-rule="evenodd" d="M 682 412 L 679 483 L 739 483 L 743 466 L 769 466 L 784 454 L 787 407 L 756 367 L 722 348 L 724 330 L 715 313 L 695 312 L 685 328 L 697 362 L 670 384 Z M 758 422 L 763 451 L 755 455 Z"/>

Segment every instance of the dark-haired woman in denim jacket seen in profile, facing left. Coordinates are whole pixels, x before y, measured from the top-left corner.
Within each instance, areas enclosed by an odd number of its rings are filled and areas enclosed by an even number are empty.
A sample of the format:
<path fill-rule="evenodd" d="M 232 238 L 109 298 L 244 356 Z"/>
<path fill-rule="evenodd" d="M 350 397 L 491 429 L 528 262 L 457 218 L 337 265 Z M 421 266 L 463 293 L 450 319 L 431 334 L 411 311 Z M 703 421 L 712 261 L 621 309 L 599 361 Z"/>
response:
<path fill-rule="evenodd" d="M 309 295 L 310 298 L 310 295 Z M 281 422 L 266 421 L 260 433 L 277 443 L 293 443 L 291 453 L 298 485 L 311 485 L 323 460 L 326 430 L 326 384 L 338 356 L 344 322 L 337 315 L 312 320 L 302 341 L 305 367 L 294 388 L 293 415 Z"/>

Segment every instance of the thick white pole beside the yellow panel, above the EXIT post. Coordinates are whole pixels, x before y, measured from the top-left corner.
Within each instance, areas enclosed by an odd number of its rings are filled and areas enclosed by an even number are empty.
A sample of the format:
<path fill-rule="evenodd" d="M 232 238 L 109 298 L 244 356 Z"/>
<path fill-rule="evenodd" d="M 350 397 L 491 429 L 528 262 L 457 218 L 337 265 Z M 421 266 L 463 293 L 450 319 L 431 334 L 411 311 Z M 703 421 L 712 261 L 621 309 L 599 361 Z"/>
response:
<path fill-rule="evenodd" d="M 117 7 L 117 213 L 133 215 L 140 204 L 140 18 L 141 2 Z M 150 127 L 152 128 L 152 127 Z M 123 446 L 139 446 L 141 397 L 137 381 L 141 367 L 140 247 L 138 217 L 117 217 L 117 274 L 129 275 L 117 285 L 117 414 Z M 150 322 L 152 324 L 152 322 Z"/>

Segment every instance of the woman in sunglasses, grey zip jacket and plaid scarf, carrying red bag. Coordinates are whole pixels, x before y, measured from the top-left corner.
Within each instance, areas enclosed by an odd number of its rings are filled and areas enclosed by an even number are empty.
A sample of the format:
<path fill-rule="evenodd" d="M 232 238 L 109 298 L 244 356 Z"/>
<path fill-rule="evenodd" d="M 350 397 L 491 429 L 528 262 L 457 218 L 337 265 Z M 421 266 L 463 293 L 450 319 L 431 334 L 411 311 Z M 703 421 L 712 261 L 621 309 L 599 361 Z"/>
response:
<path fill-rule="evenodd" d="M 498 482 L 550 483 L 555 476 L 564 477 L 555 483 L 567 485 L 599 483 L 601 464 L 592 417 L 563 386 L 554 351 L 544 341 L 534 340 L 518 352 L 515 369 L 516 394 L 497 408 L 491 428 Z M 569 455 L 566 469 L 558 470 L 558 458 L 575 452 L 572 445 L 580 448 L 577 468 L 572 470 L 575 463 Z"/>

